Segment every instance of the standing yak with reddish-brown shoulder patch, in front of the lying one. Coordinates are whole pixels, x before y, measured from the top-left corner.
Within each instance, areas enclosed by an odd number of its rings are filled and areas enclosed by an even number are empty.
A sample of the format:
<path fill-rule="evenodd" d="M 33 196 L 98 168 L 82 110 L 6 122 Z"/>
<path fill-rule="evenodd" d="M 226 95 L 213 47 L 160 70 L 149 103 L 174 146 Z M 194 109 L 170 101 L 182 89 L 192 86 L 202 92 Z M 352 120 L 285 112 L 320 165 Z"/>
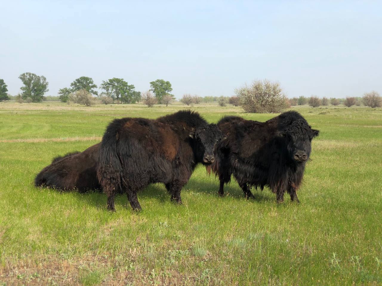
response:
<path fill-rule="evenodd" d="M 115 119 L 102 138 L 97 176 L 107 194 L 107 209 L 115 210 L 121 186 L 131 207 L 141 210 L 137 192 L 150 183 L 164 183 L 172 201 L 181 203 L 181 188 L 200 162 L 214 162 L 214 147 L 222 132 L 193 111 L 178 111 L 156 120 Z"/>

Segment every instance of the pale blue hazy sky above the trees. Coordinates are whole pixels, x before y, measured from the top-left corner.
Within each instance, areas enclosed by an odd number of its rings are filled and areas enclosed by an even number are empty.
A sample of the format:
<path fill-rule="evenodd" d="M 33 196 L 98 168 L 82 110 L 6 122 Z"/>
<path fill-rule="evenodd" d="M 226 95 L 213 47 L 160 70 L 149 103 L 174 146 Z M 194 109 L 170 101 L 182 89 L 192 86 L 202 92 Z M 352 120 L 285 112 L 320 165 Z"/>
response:
<path fill-rule="evenodd" d="M 169 80 L 173 94 L 230 96 L 253 79 L 289 97 L 382 93 L 382 2 L 2 1 L 0 78 L 122 77 L 137 90 Z"/>

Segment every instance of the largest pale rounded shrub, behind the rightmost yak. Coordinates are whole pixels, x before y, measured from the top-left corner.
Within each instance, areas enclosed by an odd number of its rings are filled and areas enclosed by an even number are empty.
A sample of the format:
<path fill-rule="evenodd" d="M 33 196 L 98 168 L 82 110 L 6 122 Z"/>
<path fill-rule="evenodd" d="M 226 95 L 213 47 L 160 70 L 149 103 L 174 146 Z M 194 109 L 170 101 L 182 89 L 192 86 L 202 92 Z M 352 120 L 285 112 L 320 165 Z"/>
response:
<path fill-rule="evenodd" d="M 236 89 L 235 93 L 246 112 L 274 113 L 288 107 L 288 100 L 278 82 L 255 80 L 251 85 Z"/>

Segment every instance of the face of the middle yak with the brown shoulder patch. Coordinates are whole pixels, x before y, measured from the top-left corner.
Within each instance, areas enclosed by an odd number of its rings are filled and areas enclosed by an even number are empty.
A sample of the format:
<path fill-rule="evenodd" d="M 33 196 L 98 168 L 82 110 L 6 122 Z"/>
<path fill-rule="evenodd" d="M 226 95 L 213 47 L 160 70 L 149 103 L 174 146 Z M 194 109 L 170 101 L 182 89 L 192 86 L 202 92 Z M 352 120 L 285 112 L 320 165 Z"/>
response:
<path fill-rule="evenodd" d="M 194 139 L 198 161 L 203 164 L 211 164 L 215 161 L 214 149 L 216 144 L 227 138 L 213 123 L 196 129 L 189 136 Z"/>

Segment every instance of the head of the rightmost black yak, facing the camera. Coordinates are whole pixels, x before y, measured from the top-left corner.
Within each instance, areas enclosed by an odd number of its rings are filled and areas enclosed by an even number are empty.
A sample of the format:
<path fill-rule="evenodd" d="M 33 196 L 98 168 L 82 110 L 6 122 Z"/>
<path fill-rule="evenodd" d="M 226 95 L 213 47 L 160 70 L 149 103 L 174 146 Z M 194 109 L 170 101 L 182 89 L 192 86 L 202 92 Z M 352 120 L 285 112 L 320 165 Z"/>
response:
<path fill-rule="evenodd" d="M 312 129 L 304 119 L 292 122 L 281 135 L 285 140 L 286 154 L 289 161 L 306 162 L 312 151 L 312 139 L 319 130 Z"/>

